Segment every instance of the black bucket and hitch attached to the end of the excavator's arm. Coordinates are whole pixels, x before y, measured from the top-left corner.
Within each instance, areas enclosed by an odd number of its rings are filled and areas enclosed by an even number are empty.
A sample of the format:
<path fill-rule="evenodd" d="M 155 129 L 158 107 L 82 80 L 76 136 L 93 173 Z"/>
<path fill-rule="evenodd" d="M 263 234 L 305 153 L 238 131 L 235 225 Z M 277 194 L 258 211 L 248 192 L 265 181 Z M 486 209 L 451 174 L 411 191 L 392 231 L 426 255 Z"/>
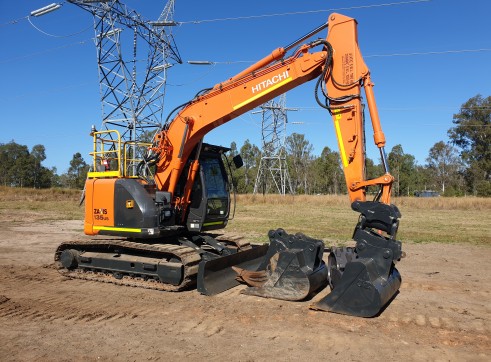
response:
<path fill-rule="evenodd" d="M 403 254 L 401 242 L 394 239 L 400 213 L 395 206 L 380 203 L 355 202 L 352 207 L 361 212 L 353 235 L 356 247 L 331 250 L 328 275 L 332 291 L 310 308 L 374 317 L 401 285 L 395 262 Z M 380 231 L 389 236 L 383 236 Z"/>

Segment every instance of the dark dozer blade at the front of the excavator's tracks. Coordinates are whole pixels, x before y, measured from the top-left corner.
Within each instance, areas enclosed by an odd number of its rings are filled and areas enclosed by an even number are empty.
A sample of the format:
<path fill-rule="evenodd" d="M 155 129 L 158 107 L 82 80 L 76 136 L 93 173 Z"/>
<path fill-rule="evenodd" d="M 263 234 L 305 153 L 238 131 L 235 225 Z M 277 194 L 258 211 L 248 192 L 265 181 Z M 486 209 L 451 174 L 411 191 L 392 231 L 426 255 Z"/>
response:
<path fill-rule="evenodd" d="M 236 287 L 240 282 L 233 268 L 257 270 L 267 251 L 268 245 L 265 244 L 235 254 L 202 260 L 198 267 L 198 292 L 215 295 Z"/>

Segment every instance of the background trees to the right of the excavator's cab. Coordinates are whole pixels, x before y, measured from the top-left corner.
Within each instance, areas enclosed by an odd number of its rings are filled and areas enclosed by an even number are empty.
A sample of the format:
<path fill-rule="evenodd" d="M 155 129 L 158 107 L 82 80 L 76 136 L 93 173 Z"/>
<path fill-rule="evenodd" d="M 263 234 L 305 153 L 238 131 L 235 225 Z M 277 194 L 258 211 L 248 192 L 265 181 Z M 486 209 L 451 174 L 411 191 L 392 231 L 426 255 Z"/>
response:
<path fill-rule="evenodd" d="M 394 196 L 411 196 L 424 190 L 445 196 L 491 196 L 491 97 L 477 95 L 465 102 L 453 116 L 453 127 L 447 132 L 450 141 L 438 141 L 428 151 L 426 163 L 418 165 L 413 155 L 395 145 L 387 155 L 395 177 Z M 232 153 L 237 146 L 233 143 Z M 346 193 L 339 153 L 325 147 L 319 156 L 304 135 L 293 133 L 286 138 L 285 157 L 294 193 Z M 244 158 L 243 169 L 234 170 L 239 193 L 251 193 L 261 152 L 246 141 L 238 152 Z M 384 174 L 378 160 L 366 159 L 366 177 Z M 266 180 L 266 192 L 275 192 L 274 180 Z M 370 191 L 370 190 L 369 190 Z M 376 192 L 377 190 L 373 190 Z"/>

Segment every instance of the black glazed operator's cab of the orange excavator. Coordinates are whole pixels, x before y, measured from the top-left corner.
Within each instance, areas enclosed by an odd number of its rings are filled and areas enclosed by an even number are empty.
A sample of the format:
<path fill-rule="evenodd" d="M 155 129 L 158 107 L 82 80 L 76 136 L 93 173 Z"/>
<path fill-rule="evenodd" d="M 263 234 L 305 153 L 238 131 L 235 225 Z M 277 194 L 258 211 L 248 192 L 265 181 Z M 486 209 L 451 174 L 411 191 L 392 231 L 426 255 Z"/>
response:
<path fill-rule="evenodd" d="M 230 214 L 230 187 L 222 160 L 222 155 L 227 151 L 229 148 L 203 145 L 186 219 L 189 231 L 217 230 L 227 225 Z"/>

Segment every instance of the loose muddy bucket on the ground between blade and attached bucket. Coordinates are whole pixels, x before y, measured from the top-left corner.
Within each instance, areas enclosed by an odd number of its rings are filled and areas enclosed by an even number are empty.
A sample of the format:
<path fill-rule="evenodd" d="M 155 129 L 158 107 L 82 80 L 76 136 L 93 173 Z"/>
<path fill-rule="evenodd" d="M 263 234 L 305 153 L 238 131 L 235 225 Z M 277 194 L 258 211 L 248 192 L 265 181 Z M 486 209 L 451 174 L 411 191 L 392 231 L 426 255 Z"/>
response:
<path fill-rule="evenodd" d="M 327 285 L 324 243 L 283 229 L 269 232 L 270 246 L 257 270 L 234 268 L 250 287 L 243 294 L 298 301 Z"/>

